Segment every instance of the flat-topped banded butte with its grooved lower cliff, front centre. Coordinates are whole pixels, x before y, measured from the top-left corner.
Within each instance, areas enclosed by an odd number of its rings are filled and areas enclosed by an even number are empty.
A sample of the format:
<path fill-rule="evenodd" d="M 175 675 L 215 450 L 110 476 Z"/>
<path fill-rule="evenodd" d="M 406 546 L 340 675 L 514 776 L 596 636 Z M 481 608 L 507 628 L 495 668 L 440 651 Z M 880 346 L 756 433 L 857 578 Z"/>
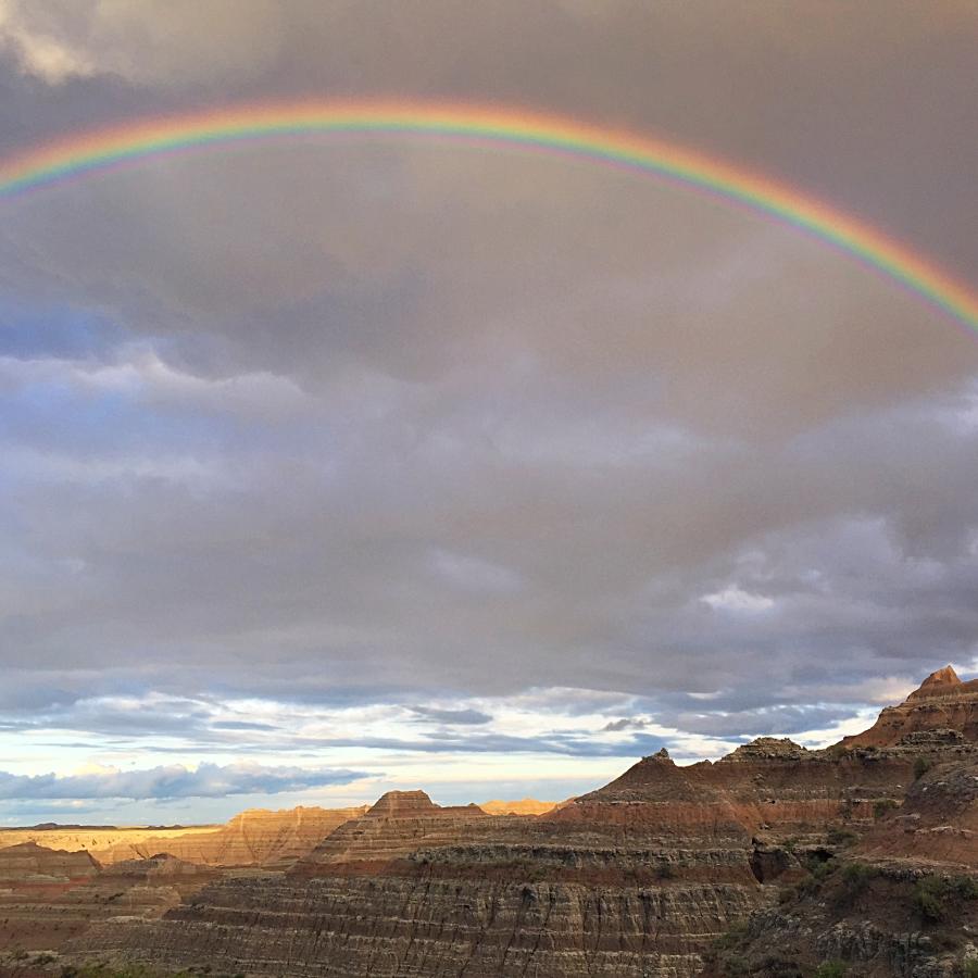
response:
<path fill-rule="evenodd" d="M 292 873 L 226 880 L 79 949 L 297 976 L 689 974 L 762 888 L 747 851 L 649 841 L 392 792 Z"/>

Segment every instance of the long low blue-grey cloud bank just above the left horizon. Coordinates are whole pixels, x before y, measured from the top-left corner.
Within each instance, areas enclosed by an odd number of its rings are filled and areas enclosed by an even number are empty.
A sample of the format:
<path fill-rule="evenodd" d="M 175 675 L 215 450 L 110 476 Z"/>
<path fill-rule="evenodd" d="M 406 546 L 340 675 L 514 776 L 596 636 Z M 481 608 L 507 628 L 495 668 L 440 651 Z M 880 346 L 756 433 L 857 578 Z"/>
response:
<path fill-rule="evenodd" d="M 262 767 L 258 764 L 179 764 L 148 770 L 105 768 L 77 775 L 12 775 L 0 772 L 4 799 L 173 799 L 224 798 L 230 794 L 278 794 L 327 785 L 348 785 L 362 772 Z"/>

